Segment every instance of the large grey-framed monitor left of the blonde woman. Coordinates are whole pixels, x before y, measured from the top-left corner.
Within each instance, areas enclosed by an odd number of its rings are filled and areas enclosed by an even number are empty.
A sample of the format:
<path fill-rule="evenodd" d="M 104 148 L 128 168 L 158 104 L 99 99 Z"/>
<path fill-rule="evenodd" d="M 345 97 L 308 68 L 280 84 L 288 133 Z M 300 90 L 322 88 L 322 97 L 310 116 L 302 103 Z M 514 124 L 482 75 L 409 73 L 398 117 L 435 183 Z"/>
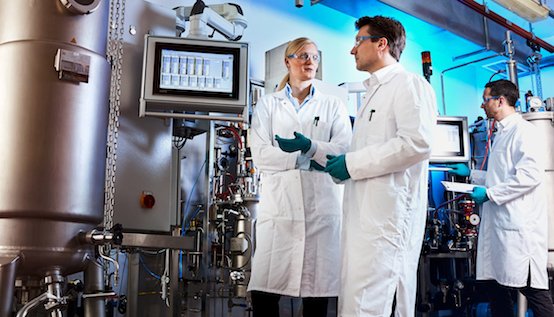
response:
<path fill-rule="evenodd" d="M 145 41 L 141 107 L 243 112 L 249 90 L 247 44 L 159 36 Z"/>

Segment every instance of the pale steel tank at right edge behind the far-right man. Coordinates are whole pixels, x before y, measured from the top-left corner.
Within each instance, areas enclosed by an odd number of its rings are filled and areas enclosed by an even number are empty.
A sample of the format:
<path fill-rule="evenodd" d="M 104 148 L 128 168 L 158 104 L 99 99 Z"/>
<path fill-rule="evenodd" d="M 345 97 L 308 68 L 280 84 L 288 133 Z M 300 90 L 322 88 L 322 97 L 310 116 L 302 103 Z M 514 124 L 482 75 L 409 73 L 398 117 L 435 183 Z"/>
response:
<path fill-rule="evenodd" d="M 545 139 L 546 192 L 548 201 L 548 249 L 554 250 L 554 112 L 527 112 L 523 118 L 539 128 Z M 548 268 L 554 271 L 554 252 L 548 252 Z"/>

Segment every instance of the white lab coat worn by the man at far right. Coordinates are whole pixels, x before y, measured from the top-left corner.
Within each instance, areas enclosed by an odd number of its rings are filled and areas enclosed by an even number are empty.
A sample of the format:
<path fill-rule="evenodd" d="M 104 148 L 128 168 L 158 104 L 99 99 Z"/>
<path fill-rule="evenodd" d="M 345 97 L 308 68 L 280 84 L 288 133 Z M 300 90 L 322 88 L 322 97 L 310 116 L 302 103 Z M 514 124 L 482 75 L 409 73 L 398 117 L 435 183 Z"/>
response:
<path fill-rule="evenodd" d="M 472 171 L 485 185 L 477 243 L 477 279 L 548 289 L 548 211 L 544 143 L 538 129 L 517 113 L 497 123 L 488 171 Z"/>

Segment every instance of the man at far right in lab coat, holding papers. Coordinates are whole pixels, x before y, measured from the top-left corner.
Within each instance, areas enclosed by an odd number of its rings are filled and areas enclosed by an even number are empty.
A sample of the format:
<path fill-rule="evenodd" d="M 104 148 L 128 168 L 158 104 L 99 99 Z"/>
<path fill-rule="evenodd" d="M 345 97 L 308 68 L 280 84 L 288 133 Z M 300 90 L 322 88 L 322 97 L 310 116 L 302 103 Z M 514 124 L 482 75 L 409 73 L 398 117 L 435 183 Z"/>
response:
<path fill-rule="evenodd" d="M 450 171 L 470 176 L 471 198 L 483 204 L 477 243 L 477 279 L 487 281 L 493 317 L 514 316 L 513 290 L 527 297 L 535 317 L 554 316 L 548 291 L 548 210 L 544 184 L 544 140 L 516 113 L 519 91 L 511 81 L 485 85 L 483 103 L 497 132 L 488 170 L 456 164 Z"/>

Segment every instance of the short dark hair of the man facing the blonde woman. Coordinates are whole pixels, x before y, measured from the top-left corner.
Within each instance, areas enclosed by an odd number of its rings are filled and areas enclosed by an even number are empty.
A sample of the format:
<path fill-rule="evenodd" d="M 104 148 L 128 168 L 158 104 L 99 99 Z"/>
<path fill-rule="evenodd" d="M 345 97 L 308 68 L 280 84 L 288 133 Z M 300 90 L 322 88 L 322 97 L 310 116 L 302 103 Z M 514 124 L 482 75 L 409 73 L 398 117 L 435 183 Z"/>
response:
<path fill-rule="evenodd" d="M 393 18 L 376 15 L 374 17 L 361 17 L 356 21 L 356 29 L 369 25 L 371 35 L 384 37 L 388 41 L 389 52 L 396 61 L 400 61 L 400 55 L 406 46 L 406 31 L 402 23 Z M 372 39 L 373 42 L 379 39 Z"/>

